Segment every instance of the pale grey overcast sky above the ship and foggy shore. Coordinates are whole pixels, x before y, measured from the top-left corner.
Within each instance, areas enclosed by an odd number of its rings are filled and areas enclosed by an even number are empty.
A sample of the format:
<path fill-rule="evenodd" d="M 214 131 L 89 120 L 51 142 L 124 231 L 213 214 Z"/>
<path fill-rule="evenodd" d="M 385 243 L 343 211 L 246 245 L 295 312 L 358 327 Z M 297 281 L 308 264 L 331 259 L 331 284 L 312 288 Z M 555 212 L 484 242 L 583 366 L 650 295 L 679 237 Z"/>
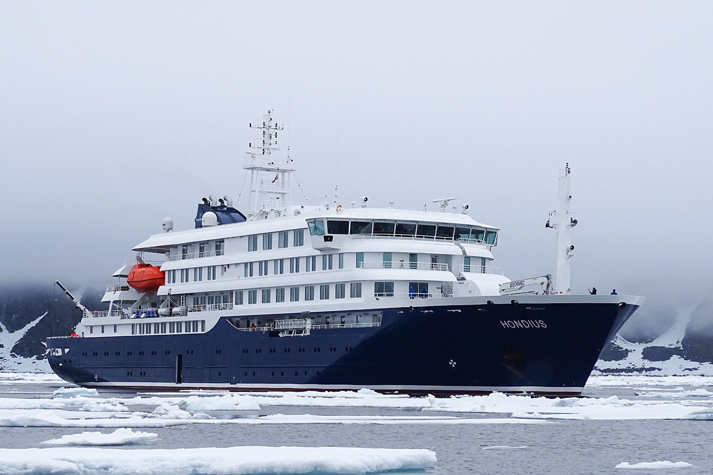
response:
<path fill-rule="evenodd" d="M 237 198 L 272 108 L 305 194 L 456 196 L 511 278 L 553 271 L 570 162 L 573 290 L 697 303 L 712 24 L 709 1 L 1 1 L 0 283 L 111 283 L 165 216 Z"/>

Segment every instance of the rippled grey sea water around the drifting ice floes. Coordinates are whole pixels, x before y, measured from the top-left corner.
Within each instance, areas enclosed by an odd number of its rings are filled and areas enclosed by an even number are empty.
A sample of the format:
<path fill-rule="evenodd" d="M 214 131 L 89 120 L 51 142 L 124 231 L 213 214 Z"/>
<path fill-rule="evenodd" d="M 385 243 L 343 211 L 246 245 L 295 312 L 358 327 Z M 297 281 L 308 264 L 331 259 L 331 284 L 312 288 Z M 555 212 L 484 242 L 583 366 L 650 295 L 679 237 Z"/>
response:
<path fill-rule="evenodd" d="M 493 398 L 486 400 L 487 404 L 475 406 L 470 404 L 471 398 L 437 398 L 429 401 L 427 398 L 402 397 L 389 401 L 396 407 L 332 407 L 313 405 L 313 398 L 305 398 L 302 405 L 294 401 L 290 402 L 290 405 L 279 405 L 279 395 L 275 395 L 274 397 L 278 398 L 275 399 L 275 405 L 260 404 L 259 410 L 207 413 L 218 420 L 260 419 L 270 414 L 284 414 L 287 416 L 284 419 L 287 422 L 188 422 L 170 427 L 139 427 L 136 430 L 158 434 L 158 439 L 148 446 L 126 446 L 121 449 L 238 446 L 431 449 L 436 452 L 438 461 L 434 466 L 423 469 L 422 473 L 425 474 L 626 474 L 629 471 L 615 469 L 615 466 L 622 462 L 637 464 L 655 461 L 686 462 L 692 466 L 685 469 L 640 469 L 634 473 L 667 474 L 680 471 L 684 474 L 709 474 L 713 473 L 713 417 L 706 418 L 704 414 L 704 419 L 692 419 L 691 416 L 682 415 L 700 412 L 701 409 L 705 413 L 707 409 L 713 408 L 713 387 L 707 385 L 713 381 L 700 382 L 703 384 L 677 387 L 676 380 L 662 382 L 659 378 L 653 384 L 647 384 L 645 378 L 640 378 L 637 380 L 637 387 L 630 387 L 626 377 L 622 377 L 621 385 L 612 385 L 609 381 L 605 386 L 588 388 L 585 398 L 574 402 L 574 409 L 569 405 L 570 402 L 558 406 L 561 407 L 562 414 L 558 414 L 558 407 L 548 407 L 548 402 L 545 401 L 543 409 L 549 412 L 549 415 L 543 415 L 537 410 L 518 409 L 520 401 L 525 406 L 531 404 L 528 401 L 532 398 L 525 396 L 518 396 L 517 400 L 501 398 L 502 412 L 498 413 L 500 409 L 497 405 L 491 404 L 491 400 L 495 400 L 494 404 L 498 404 L 498 400 Z M 51 398 L 53 391 L 62 385 L 66 386 L 66 383 L 59 380 L 5 382 L 0 385 L 0 397 L 6 401 L 10 398 L 43 400 Z M 697 395 L 694 390 L 698 391 Z M 707 392 L 710 394 L 707 395 Z M 177 393 L 172 393 L 166 397 L 176 395 Z M 130 399 L 136 396 L 136 392 L 101 391 L 93 399 L 102 402 L 114 398 L 115 403 L 116 400 L 131 401 L 131 404 L 127 404 L 128 411 L 122 417 L 132 412 L 150 414 L 157 405 L 155 399 L 152 399 L 151 404 L 137 404 L 136 400 Z M 141 396 L 155 398 L 155 394 Z M 364 404 L 378 404 L 374 397 L 376 395 L 366 392 Z M 319 401 L 317 398 L 317 404 Z M 322 401 L 324 404 L 334 402 L 327 398 Z M 470 405 L 463 405 L 465 402 Z M 597 402 L 596 412 L 588 412 L 590 407 L 587 407 L 587 402 Z M 439 404 L 451 404 L 456 409 L 460 408 L 458 404 L 461 404 L 462 407 L 468 406 L 470 410 L 473 410 L 473 407 L 483 407 L 485 412 L 434 412 L 428 409 L 438 407 Z M 18 403 L 13 409 L 12 404 L 9 404 L 10 409 L 0 411 L 0 419 L 3 416 L 7 419 L 7 414 L 27 413 L 27 409 L 22 409 L 22 405 Z M 651 408 L 656 410 L 640 412 Z M 32 414 L 43 410 L 46 409 L 33 409 Z M 77 406 L 74 410 L 81 412 L 81 407 Z M 508 419 L 500 422 L 518 419 L 513 418 L 513 415 L 518 415 L 513 412 L 520 410 L 524 412 L 519 415 L 543 419 L 531 421 L 538 422 L 535 424 L 498 423 L 498 419 Z M 565 414 L 566 411 L 571 412 Z M 323 423 L 309 423 L 304 422 L 307 414 L 327 417 L 320 419 Z M 77 414 L 76 417 L 83 415 Z M 362 418 L 349 422 L 349 416 Z M 576 418 L 556 418 L 570 416 Z M 289 420 L 292 420 L 289 417 L 294 417 L 294 421 L 299 423 L 289 423 Z M 404 418 L 404 422 L 399 422 L 397 418 Z M 484 423 L 477 423 L 479 421 Z M 66 434 L 87 431 L 108 433 L 113 430 L 115 429 L 106 427 L 2 427 L 0 447 L 48 447 L 41 442 Z M 0 462 L 0 474 L 4 473 L 6 472 Z"/>

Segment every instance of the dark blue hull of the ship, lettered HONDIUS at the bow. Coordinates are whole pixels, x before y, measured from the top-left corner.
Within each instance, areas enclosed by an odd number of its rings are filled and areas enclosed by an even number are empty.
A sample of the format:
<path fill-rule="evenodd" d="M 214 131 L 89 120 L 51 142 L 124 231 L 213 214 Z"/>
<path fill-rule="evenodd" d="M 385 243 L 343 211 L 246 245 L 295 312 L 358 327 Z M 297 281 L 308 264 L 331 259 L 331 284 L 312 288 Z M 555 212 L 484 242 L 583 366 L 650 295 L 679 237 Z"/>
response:
<path fill-rule="evenodd" d="M 88 387 L 578 395 L 602 349 L 638 308 L 591 300 L 381 308 L 379 327 L 304 336 L 241 331 L 221 318 L 203 334 L 47 343 L 68 348 L 49 356 L 57 375 Z"/>

